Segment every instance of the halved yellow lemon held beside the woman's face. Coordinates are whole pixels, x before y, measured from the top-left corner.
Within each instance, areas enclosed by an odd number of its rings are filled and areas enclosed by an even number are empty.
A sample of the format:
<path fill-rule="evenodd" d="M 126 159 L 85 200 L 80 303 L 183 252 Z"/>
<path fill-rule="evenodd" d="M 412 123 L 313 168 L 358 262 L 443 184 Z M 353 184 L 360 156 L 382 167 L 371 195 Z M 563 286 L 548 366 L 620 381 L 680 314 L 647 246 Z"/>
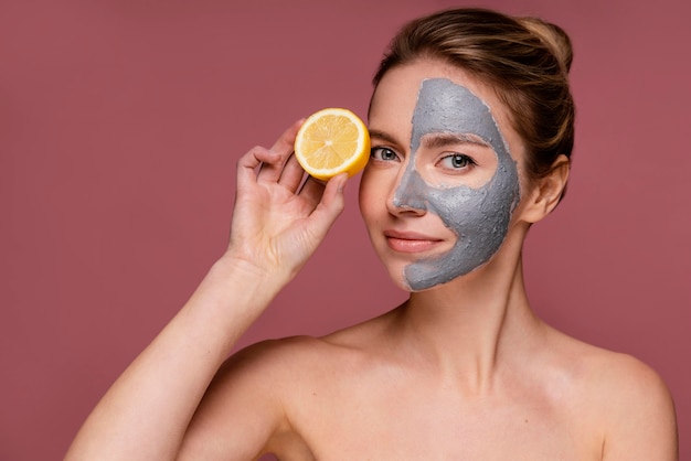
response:
<path fill-rule="evenodd" d="M 352 176 L 370 158 L 370 133 L 350 110 L 322 109 L 300 127 L 295 138 L 295 157 L 318 180 L 326 181 L 343 172 Z"/>

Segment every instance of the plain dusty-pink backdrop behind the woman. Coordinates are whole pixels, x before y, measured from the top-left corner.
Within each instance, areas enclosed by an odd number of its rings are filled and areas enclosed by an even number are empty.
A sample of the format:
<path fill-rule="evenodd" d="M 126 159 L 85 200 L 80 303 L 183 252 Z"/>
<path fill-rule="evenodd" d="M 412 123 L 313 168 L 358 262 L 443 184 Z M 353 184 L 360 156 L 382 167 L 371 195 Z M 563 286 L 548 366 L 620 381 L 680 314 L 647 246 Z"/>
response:
<path fill-rule="evenodd" d="M 185 301 L 225 247 L 237 157 L 321 107 L 364 115 L 395 29 L 451 4 L 0 3 L 0 460 L 60 459 Z M 689 450 L 691 3 L 471 4 L 572 34 L 573 176 L 529 237 L 529 291 L 554 325 L 653 366 Z M 355 182 L 242 344 L 327 333 L 404 298 L 370 248 Z"/>

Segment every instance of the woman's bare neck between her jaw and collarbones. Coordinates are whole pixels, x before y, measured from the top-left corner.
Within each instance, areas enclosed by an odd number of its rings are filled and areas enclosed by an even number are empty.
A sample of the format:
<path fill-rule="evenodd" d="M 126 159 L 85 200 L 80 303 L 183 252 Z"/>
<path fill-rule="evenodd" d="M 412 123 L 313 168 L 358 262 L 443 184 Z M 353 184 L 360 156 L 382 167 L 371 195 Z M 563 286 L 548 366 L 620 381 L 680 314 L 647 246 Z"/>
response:
<path fill-rule="evenodd" d="M 477 394 L 490 392 L 498 373 L 535 347 L 542 331 L 525 294 L 520 253 L 413 293 L 397 321 L 408 353 Z"/>

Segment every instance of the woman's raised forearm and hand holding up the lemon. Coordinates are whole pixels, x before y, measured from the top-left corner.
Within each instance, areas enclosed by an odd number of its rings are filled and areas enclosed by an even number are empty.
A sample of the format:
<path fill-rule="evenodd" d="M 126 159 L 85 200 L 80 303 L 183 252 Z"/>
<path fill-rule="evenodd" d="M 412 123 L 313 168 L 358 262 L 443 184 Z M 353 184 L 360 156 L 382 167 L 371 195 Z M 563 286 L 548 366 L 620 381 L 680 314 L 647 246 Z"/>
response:
<path fill-rule="evenodd" d="M 343 208 L 290 156 L 300 122 L 238 162 L 231 239 L 188 303 L 89 415 L 66 460 L 172 460 L 233 345 L 295 276 Z M 238 421 L 242 424 L 242 421 Z M 266 424 L 269 424 L 267 421 Z"/>

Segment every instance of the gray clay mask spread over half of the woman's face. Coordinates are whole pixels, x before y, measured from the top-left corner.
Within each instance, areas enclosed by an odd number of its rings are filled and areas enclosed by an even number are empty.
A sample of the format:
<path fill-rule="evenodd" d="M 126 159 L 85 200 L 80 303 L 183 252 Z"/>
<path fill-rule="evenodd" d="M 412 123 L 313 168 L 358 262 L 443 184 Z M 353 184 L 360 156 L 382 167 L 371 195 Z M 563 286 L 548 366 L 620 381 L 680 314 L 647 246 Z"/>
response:
<path fill-rule="evenodd" d="M 497 170 L 483 185 L 429 185 L 415 169 L 421 139 L 429 133 L 475 135 L 497 154 Z M 446 78 L 423 81 L 413 114 L 411 156 L 394 204 L 438 215 L 457 240 L 447 253 L 404 269 L 412 290 L 424 290 L 466 275 L 487 262 L 503 243 L 520 197 L 515 161 L 489 107 L 466 87 Z"/>

